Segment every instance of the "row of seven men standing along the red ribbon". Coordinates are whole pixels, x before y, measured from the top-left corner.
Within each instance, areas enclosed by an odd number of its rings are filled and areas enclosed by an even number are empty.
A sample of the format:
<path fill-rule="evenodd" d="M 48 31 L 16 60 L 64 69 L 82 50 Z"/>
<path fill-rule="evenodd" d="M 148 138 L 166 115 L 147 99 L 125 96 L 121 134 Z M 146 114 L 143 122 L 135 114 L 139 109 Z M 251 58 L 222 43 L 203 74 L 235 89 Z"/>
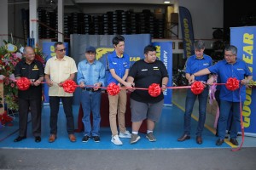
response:
<path fill-rule="evenodd" d="M 228 46 L 224 49 L 224 60 L 212 65 L 211 57 L 204 54 L 205 44 L 202 41 L 195 42 L 195 55 L 190 56 L 186 62 L 186 78 L 189 83 L 201 81 L 212 85 L 213 80 L 209 75 L 217 74 L 221 83 L 225 83 L 229 77 L 236 77 L 241 81 L 241 101 L 245 100 L 245 86 L 252 79 L 252 73 L 241 59 L 236 58 L 237 49 L 235 46 Z M 77 82 L 82 88 L 81 104 L 84 111 L 82 122 L 84 123 L 83 142 L 94 139 L 100 142 L 100 105 L 102 88 L 114 82 L 120 88 L 117 95 L 108 94 L 109 100 L 109 122 L 111 128 L 111 142 L 113 144 L 123 144 L 120 138 L 130 138 L 130 143 L 134 144 L 140 139 L 139 128 L 143 120 L 147 120 L 146 138 L 154 142 L 154 125 L 158 122 L 164 104 L 164 95 L 169 75 L 166 66 L 157 59 L 156 48 L 148 45 L 144 48 L 144 59 L 138 60 L 130 65 L 130 56 L 125 54 L 125 38 L 122 36 L 113 37 L 113 52 L 108 54 L 107 66 L 109 74 L 107 84 L 105 84 L 106 68 L 96 60 L 96 48 L 87 47 L 85 59 L 79 62 L 78 67 L 74 59 L 66 56 L 66 48 L 62 42 L 55 43 L 56 56 L 48 59 L 45 68 L 34 59 L 34 51 L 31 47 L 24 49 L 24 59 L 15 67 L 15 77 L 27 77 L 31 80 L 32 86 L 26 91 L 19 90 L 19 113 L 20 113 L 20 133 L 15 142 L 26 139 L 26 122 L 29 108 L 32 114 L 32 133 L 36 142 L 41 141 L 41 82 L 44 81 L 49 86 L 49 107 L 50 107 L 50 135 L 49 142 L 54 142 L 57 138 L 57 119 L 60 100 L 62 101 L 64 112 L 67 118 L 67 133 L 71 142 L 76 141 L 74 136 L 73 122 L 73 94 L 64 92 L 62 83 L 66 80 L 73 80 L 77 73 Z M 77 69 L 78 68 L 78 69 Z M 152 97 L 148 91 L 137 88 L 148 88 L 150 84 L 160 84 L 161 93 L 157 97 Z M 125 127 L 125 110 L 127 100 L 127 90 L 131 91 L 131 133 Z M 219 139 L 216 144 L 224 143 L 224 132 L 227 124 L 228 113 L 232 109 L 234 119 L 230 132 L 230 142 L 238 144 L 236 140 L 237 128 L 240 121 L 239 90 L 229 91 L 224 86 L 220 89 L 220 119 L 218 121 Z M 184 114 L 184 133 L 177 139 L 184 141 L 190 139 L 191 114 L 195 99 L 199 99 L 199 121 L 196 130 L 196 143 L 202 144 L 202 132 L 206 120 L 208 87 L 204 88 L 201 94 L 193 94 L 188 89 Z M 92 125 L 90 123 L 90 112 L 93 115 Z M 118 126 L 117 126 L 118 116 Z M 130 120 L 129 120 L 130 121 Z M 118 131 L 119 127 L 119 131 Z"/>

